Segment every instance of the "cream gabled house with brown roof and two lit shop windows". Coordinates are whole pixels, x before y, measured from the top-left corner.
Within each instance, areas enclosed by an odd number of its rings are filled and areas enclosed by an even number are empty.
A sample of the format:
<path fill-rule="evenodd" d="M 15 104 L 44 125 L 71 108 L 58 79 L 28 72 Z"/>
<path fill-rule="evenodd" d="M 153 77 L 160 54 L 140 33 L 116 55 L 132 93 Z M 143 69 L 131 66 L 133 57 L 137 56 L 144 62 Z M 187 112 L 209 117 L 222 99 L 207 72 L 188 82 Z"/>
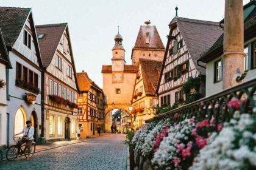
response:
<path fill-rule="evenodd" d="M 76 138 L 77 80 L 68 24 L 37 25 L 43 60 L 43 125 L 46 141 Z"/>

